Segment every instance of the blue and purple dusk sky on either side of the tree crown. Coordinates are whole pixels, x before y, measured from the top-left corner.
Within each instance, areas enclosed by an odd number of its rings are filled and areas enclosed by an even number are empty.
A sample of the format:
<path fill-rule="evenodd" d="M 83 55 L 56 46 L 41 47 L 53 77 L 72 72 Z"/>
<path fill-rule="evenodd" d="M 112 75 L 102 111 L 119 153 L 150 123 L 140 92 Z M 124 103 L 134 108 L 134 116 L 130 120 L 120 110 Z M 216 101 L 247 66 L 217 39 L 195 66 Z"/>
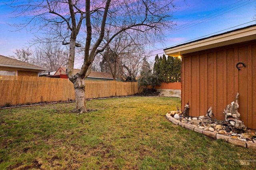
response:
<path fill-rule="evenodd" d="M 15 28 L 8 23 L 22 22 L 22 18 L 13 18 L 14 9 L 4 2 L 10 1 L 0 1 L 0 55 L 8 57 L 14 55 L 15 49 L 25 47 L 34 35 L 26 29 L 13 31 Z M 179 43 L 256 24 L 253 21 L 256 0 L 174 0 L 174 4 L 177 26 L 174 31 L 166 32 L 165 44 L 157 43 L 152 49 L 152 59 L 156 54 L 162 55 L 163 49 Z"/>

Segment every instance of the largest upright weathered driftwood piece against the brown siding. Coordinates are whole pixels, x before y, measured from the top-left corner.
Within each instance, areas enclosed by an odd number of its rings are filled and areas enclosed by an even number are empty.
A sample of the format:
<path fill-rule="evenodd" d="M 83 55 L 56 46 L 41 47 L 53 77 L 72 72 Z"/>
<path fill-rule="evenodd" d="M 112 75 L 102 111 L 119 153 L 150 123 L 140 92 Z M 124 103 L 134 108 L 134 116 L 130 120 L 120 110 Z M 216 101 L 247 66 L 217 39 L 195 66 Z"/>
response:
<path fill-rule="evenodd" d="M 244 122 L 239 119 L 240 113 L 237 111 L 237 109 L 239 108 L 238 103 L 239 103 L 239 93 L 236 94 L 235 102 L 228 104 L 226 109 L 224 109 L 223 113 L 225 114 L 225 121 L 226 121 L 226 124 L 231 128 L 246 130 L 246 126 L 244 125 Z"/>

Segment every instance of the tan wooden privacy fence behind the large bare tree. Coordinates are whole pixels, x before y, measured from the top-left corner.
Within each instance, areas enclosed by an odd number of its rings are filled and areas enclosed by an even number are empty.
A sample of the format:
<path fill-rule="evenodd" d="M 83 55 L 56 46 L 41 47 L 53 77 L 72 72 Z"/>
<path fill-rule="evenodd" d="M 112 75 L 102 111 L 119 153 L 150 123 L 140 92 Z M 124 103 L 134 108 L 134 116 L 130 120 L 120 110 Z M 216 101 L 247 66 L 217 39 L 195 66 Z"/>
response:
<path fill-rule="evenodd" d="M 138 93 L 137 82 L 85 80 L 87 99 L 127 96 Z M 1 76 L 0 106 L 75 100 L 74 85 L 68 79 Z"/>

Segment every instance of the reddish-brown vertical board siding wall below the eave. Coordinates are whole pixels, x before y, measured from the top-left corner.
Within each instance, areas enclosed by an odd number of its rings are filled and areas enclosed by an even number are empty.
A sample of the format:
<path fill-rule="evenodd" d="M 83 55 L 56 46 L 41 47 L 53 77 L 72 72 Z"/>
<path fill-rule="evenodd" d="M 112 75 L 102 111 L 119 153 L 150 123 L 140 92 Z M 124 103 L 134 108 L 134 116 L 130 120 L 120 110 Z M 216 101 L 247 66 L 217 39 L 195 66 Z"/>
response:
<path fill-rule="evenodd" d="M 238 62 L 246 67 L 236 68 Z M 240 93 L 239 113 L 248 128 L 256 129 L 256 41 L 182 55 L 182 106 L 190 115 L 205 115 L 212 106 L 214 118 Z"/>

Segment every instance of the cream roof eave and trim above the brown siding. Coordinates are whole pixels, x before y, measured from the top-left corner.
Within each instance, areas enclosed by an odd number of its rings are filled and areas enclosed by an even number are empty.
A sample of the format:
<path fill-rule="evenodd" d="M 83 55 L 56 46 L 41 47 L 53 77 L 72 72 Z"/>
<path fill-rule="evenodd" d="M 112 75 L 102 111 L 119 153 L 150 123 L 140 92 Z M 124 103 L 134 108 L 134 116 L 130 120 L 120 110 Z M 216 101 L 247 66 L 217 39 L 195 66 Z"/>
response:
<path fill-rule="evenodd" d="M 250 41 L 256 39 L 256 26 L 232 31 L 230 33 L 220 34 L 218 36 L 209 37 L 206 39 L 193 41 L 184 45 L 164 49 L 166 55 L 178 57 L 183 54 L 193 53 L 206 49 L 221 47 L 224 45 L 231 45 Z"/>

